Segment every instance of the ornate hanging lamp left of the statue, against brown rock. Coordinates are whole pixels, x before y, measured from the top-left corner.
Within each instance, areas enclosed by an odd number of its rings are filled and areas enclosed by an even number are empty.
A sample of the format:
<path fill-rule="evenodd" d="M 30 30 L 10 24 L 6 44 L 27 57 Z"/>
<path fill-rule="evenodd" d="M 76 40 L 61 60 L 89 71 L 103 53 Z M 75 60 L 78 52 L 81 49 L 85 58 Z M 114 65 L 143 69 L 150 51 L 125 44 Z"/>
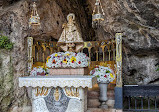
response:
<path fill-rule="evenodd" d="M 29 27 L 40 26 L 40 17 L 37 12 L 36 2 L 33 2 L 33 9 L 31 11 L 31 17 L 29 19 Z"/>

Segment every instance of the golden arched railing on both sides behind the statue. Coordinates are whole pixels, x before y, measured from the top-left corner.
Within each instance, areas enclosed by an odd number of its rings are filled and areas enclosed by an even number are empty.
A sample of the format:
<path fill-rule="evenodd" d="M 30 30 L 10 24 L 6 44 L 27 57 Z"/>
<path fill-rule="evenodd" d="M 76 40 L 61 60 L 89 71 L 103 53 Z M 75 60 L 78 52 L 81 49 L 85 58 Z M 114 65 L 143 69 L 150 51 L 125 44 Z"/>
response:
<path fill-rule="evenodd" d="M 115 40 L 84 42 L 82 52 L 86 53 L 91 61 L 115 61 Z M 34 40 L 32 45 L 33 62 L 46 62 L 47 56 L 61 51 L 57 42 Z"/>

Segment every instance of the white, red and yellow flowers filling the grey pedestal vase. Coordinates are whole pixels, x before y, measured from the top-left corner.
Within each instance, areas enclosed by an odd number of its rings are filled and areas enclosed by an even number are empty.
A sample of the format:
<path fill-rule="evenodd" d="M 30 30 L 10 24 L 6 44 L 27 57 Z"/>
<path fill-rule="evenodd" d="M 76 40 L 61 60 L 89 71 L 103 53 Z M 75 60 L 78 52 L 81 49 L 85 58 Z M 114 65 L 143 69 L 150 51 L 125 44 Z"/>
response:
<path fill-rule="evenodd" d="M 90 74 L 97 77 L 98 83 L 110 83 L 115 79 L 113 70 L 104 66 L 96 66 L 90 71 Z"/>

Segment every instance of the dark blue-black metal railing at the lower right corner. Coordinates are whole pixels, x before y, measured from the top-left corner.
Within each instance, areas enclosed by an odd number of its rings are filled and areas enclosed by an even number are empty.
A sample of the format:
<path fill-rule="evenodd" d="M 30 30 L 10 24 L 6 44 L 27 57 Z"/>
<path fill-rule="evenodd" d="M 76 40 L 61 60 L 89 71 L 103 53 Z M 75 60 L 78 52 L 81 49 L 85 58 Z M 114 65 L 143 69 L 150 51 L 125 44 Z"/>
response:
<path fill-rule="evenodd" d="M 159 85 L 124 85 L 124 112 L 159 112 Z"/>

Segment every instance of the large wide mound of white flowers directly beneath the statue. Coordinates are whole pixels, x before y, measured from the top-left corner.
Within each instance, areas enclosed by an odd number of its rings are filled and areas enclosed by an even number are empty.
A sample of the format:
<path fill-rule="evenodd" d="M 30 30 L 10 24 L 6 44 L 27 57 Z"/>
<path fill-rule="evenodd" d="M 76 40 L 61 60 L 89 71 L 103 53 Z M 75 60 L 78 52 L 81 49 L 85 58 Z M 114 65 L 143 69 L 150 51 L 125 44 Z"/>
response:
<path fill-rule="evenodd" d="M 81 52 L 58 52 L 47 57 L 46 67 L 87 67 L 89 65 L 89 60 L 89 57 Z"/>

